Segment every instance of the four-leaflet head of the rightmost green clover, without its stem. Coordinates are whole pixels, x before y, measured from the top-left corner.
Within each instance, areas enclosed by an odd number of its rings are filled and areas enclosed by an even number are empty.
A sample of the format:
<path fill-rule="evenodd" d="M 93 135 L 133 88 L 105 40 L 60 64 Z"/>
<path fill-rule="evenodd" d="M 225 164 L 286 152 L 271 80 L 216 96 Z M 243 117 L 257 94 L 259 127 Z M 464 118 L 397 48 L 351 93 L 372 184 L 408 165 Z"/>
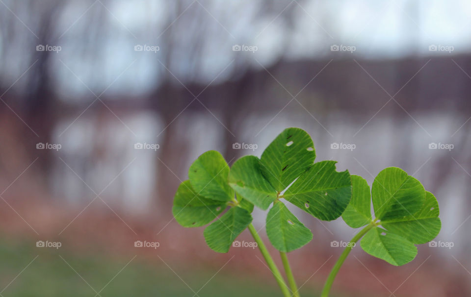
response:
<path fill-rule="evenodd" d="M 371 195 L 360 176 L 352 175 L 352 186 L 352 198 L 342 218 L 353 228 L 372 224 L 361 241 L 368 254 L 392 265 L 404 265 L 415 258 L 416 244 L 427 243 L 440 232 L 437 199 L 405 171 L 396 167 L 381 171 L 374 179 Z M 371 219 L 371 200 L 375 220 Z"/>

